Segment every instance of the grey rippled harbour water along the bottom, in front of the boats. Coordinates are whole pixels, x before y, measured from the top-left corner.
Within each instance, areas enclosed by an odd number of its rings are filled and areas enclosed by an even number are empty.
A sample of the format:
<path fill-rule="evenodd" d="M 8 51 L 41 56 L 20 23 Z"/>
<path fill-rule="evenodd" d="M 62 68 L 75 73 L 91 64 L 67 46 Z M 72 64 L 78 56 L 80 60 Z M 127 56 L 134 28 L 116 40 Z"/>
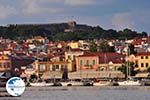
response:
<path fill-rule="evenodd" d="M 29 87 L 21 97 L 0 100 L 150 100 L 150 87 Z"/>

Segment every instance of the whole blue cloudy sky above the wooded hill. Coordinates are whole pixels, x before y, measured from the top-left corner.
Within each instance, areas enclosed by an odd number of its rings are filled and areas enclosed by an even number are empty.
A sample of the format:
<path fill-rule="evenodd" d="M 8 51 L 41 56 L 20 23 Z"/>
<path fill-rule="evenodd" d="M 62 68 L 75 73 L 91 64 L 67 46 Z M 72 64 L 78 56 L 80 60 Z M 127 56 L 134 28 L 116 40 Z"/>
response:
<path fill-rule="evenodd" d="M 70 20 L 150 33 L 150 0 L 0 0 L 0 25 Z"/>

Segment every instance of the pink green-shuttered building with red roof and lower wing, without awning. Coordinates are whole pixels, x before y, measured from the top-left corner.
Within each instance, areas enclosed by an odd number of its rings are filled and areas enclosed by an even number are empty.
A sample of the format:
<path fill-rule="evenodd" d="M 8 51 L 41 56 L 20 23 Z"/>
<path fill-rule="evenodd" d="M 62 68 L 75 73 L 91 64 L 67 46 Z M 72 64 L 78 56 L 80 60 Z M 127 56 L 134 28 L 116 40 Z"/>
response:
<path fill-rule="evenodd" d="M 101 70 L 104 68 L 108 71 L 110 68 L 112 70 L 117 70 L 124 62 L 125 56 L 119 53 L 88 53 L 80 55 L 76 58 L 77 71 L 80 70 Z"/>

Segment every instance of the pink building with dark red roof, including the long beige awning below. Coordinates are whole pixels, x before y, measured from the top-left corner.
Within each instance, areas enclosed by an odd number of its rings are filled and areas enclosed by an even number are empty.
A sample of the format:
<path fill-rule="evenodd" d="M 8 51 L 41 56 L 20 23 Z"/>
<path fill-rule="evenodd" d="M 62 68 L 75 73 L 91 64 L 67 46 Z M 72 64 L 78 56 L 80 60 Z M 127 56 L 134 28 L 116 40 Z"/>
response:
<path fill-rule="evenodd" d="M 118 71 L 124 57 L 118 53 L 91 53 L 78 56 L 75 75 L 82 78 L 124 78 L 125 75 Z"/>

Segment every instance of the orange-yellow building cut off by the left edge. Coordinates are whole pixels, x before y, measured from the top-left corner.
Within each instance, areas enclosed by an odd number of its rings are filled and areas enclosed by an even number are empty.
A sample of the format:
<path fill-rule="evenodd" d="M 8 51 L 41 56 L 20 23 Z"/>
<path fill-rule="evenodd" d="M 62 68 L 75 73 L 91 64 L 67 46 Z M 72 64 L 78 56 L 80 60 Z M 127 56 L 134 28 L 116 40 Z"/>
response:
<path fill-rule="evenodd" d="M 0 72 L 11 71 L 11 59 L 7 55 L 0 55 Z"/>

